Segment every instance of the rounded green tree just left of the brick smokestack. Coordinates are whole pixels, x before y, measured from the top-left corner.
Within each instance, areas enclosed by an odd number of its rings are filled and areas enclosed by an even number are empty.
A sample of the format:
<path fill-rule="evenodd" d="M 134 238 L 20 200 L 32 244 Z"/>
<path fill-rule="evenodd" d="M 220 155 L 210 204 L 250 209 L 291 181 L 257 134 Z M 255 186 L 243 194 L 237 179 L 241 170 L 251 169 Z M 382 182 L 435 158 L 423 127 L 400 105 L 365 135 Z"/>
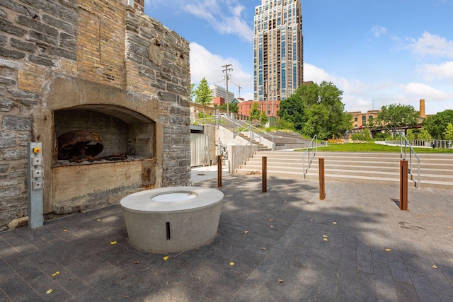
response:
<path fill-rule="evenodd" d="M 411 105 L 391 104 L 382 106 L 381 112 L 372 121 L 377 127 L 384 127 L 396 134 L 398 130 L 414 127 L 418 123 L 420 113 Z"/>

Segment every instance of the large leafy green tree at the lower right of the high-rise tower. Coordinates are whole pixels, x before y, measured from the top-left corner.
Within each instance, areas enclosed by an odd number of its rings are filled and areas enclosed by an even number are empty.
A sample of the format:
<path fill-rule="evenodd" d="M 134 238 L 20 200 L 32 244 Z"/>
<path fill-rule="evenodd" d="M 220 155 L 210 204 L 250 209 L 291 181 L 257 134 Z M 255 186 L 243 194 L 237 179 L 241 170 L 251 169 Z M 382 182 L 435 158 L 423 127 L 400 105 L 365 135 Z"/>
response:
<path fill-rule="evenodd" d="M 352 129 L 352 116 L 345 112 L 343 91 L 332 82 L 302 85 L 286 100 L 280 102 L 277 116 L 294 124 L 296 131 L 319 139 L 343 137 Z"/>

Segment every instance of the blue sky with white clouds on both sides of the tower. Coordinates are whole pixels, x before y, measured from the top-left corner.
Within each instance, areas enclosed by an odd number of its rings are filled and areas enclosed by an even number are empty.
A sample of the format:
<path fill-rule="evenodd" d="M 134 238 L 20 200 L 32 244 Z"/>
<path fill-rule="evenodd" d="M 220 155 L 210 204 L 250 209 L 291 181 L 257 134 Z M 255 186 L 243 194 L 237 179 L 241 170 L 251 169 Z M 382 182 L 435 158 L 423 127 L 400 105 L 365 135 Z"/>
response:
<path fill-rule="evenodd" d="M 453 0 L 302 0 L 304 81 L 331 81 L 348 112 L 453 109 Z M 190 42 L 197 85 L 253 100 L 253 16 L 260 0 L 145 0 L 145 13 Z M 241 87 L 239 89 L 239 87 Z M 240 91 L 240 95 L 239 95 Z"/>

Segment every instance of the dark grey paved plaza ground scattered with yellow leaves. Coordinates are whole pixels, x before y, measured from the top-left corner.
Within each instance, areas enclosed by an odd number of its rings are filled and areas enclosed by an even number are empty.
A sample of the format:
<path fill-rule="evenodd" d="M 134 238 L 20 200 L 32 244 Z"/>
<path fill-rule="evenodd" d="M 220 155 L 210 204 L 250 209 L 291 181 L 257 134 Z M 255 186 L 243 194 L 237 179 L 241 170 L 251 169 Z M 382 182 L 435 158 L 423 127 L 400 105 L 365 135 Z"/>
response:
<path fill-rule="evenodd" d="M 451 190 L 411 187 L 409 211 L 390 185 L 328 181 L 321 201 L 317 182 L 262 193 L 224 175 L 219 190 L 218 236 L 185 252 L 132 248 L 118 206 L 0 233 L 0 301 L 453 301 Z"/>

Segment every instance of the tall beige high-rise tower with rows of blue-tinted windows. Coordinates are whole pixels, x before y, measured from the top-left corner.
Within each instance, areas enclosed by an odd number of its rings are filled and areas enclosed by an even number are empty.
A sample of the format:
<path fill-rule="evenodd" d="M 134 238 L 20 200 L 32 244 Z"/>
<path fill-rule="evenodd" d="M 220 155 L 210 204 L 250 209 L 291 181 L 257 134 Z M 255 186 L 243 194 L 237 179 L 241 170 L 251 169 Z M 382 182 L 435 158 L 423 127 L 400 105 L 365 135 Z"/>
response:
<path fill-rule="evenodd" d="M 300 0 L 261 0 L 253 18 L 254 100 L 285 100 L 304 81 Z"/>

